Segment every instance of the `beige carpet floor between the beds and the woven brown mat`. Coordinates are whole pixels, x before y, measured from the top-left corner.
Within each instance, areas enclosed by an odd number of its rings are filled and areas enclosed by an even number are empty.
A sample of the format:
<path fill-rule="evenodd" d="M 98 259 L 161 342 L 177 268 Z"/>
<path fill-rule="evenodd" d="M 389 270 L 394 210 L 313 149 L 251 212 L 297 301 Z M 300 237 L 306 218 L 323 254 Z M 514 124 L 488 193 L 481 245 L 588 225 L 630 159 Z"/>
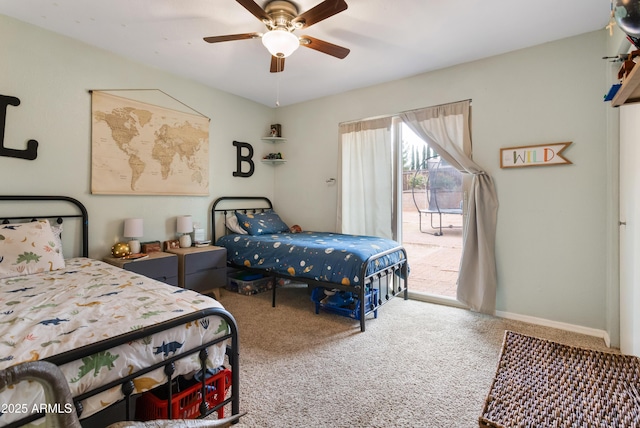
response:
<path fill-rule="evenodd" d="M 237 427 L 477 427 L 505 330 L 607 350 L 603 341 L 395 298 L 368 319 L 314 313 L 306 288 L 223 291 L 240 331 Z"/>

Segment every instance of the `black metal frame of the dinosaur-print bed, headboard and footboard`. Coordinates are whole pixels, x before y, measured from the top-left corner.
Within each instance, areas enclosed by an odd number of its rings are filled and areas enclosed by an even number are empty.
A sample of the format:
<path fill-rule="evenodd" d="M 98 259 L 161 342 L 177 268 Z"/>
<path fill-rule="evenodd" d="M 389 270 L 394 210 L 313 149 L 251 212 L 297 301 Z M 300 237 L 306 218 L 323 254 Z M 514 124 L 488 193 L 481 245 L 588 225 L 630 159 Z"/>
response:
<path fill-rule="evenodd" d="M 82 249 L 81 249 L 81 253 L 83 257 L 88 257 L 88 243 L 89 243 L 89 239 L 88 239 L 88 226 L 89 226 L 89 220 L 88 220 L 88 213 L 87 210 L 85 208 L 85 206 L 78 201 L 77 199 L 74 198 L 70 198 L 67 196 L 22 196 L 22 195 L 0 195 L 0 201 L 13 201 L 13 202 L 19 202 L 19 201 L 63 201 L 63 202 L 68 202 L 72 205 L 75 206 L 75 209 L 78 211 L 78 213 L 74 213 L 74 214 L 38 214 L 37 216 L 33 216 L 33 215 L 11 215 L 11 216 L 4 216 L 2 215 L 2 213 L 0 213 L 0 219 L 2 219 L 2 223 L 6 224 L 9 223 L 12 220 L 18 220 L 18 221 L 25 221 L 25 220 L 36 220 L 37 218 L 47 218 L 47 219 L 54 219 L 57 223 L 62 223 L 63 219 L 65 218 L 78 218 L 81 219 L 82 221 L 82 237 L 81 237 L 81 242 L 82 242 Z M 132 420 L 134 415 L 132 414 L 134 406 L 132 406 L 132 400 L 134 398 L 136 398 L 136 396 L 132 395 L 133 391 L 134 391 L 134 384 L 133 384 L 133 379 L 144 375 L 145 373 L 149 373 L 153 370 L 156 370 L 158 368 L 162 368 L 164 367 L 164 373 L 167 375 L 168 381 L 165 384 L 166 385 L 166 389 L 167 389 L 167 412 L 168 412 L 168 419 L 172 419 L 174 417 L 174 415 L 172 415 L 172 406 L 171 406 L 171 401 L 172 401 L 172 395 L 173 395 L 173 389 L 172 389 L 172 381 L 174 378 L 172 378 L 172 375 L 175 371 L 175 361 L 183 359 L 185 357 L 188 357 L 192 354 L 198 353 L 199 359 L 200 359 L 200 371 L 201 371 L 201 376 L 200 376 L 200 396 L 201 397 L 205 397 L 206 394 L 206 389 L 207 389 L 207 385 L 205 383 L 206 381 L 206 371 L 207 371 L 207 367 L 206 367 L 206 360 L 207 360 L 207 348 L 209 348 L 210 346 L 213 346 L 217 343 L 221 343 L 224 341 L 229 340 L 231 342 L 230 345 L 226 346 L 226 356 L 228 358 L 229 361 L 229 365 L 231 366 L 231 394 L 229 395 L 229 397 L 225 397 L 225 399 L 218 405 L 216 405 L 215 407 L 209 408 L 208 404 L 206 402 L 206 400 L 202 399 L 202 402 L 200 404 L 200 417 L 204 417 L 207 415 L 212 414 L 213 412 L 217 411 L 218 409 L 220 409 L 221 407 L 231 404 L 231 413 L 232 415 L 235 414 L 239 414 L 240 413 L 240 369 L 239 369 L 239 364 L 240 364 L 240 360 L 239 360 L 239 340 L 238 340 L 238 325 L 236 323 L 235 318 L 226 310 L 221 309 L 221 308 L 207 308 L 207 309 L 202 309 L 187 315 L 183 315 L 179 318 L 174 318 L 172 320 L 168 320 L 168 321 L 164 321 L 158 324 L 154 324 L 152 326 L 148 326 L 148 327 L 144 327 L 141 329 L 137 329 L 134 330 L 130 333 L 125 333 L 119 336 L 115 336 L 106 340 L 102 340 L 100 342 L 96 342 L 93 344 L 89 344 L 77 349 L 73 349 L 67 352 L 63 352 L 60 354 L 56 354 L 56 355 L 52 355 L 50 357 L 44 358 L 43 360 L 45 361 L 49 361 L 53 364 L 56 364 L 58 366 L 61 366 L 63 364 L 69 363 L 71 361 L 75 361 L 75 360 L 79 360 L 82 359 L 82 357 L 87 357 L 90 355 L 93 355 L 95 353 L 98 352 L 103 352 L 106 350 L 109 350 L 115 346 L 118 345 L 122 345 L 125 343 L 129 343 L 135 340 L 139 340 L 142 338 L 145 338 L 149 335 L 161 332 L 163 330 L 168 330 L 170 328 L 173 327 L 177 327 L 180 325 L 184 325 L 187 324 L 189 322 L 195 321 L 195 320 L 199 320 L 199 319 L 203 319 L 206 317 L 210 317 L 210 316 L 218 316 L 222 319 L 224 319 L 227 323 L 227 325 L 229 326 L 229 332 L 222 336 L 222 337 L 218 337 L 214 340 L 211 340 L 209 342 L 203 343 L 197 347 L 194 347 L 186 352 L 183 352 L 181 354 L 178 355 L 174 355 L 173 357 L 168 357 L 166 358 L 163 362 L 160 363 L 156 363 L 152 366 L 149 367 L 145 367 L 142 368 L 136 372 L 133 372 L 131 374 L 129 374 L 128 376 L 125 376 L 121 379 L 112 381 L 108 384 L 102 385 L 96 389 L 93 389 L 91 391 L 87 391 L 84 392 L 76 397 L 74 397 L 74 403 L 76 406 L 76 413 L 78 414 L 78 417 L 81 416 L 82 414 L 82 400 L 85 400 L 89 397 L 92 397 L 100 392 L 106 391 L 107 389 L 113 388 L 115 386 L 120 385 L 122 388 L 122 392 L 125 395 L 124 398 L 124 406 L 125 406 L 125 420 Z M 223 392 L 224 393 L 224 392 Z M 116 403 L 114 403 L 115 405 Z M 107 407 L 105 410 L 97 413 L 97 415 L 99 415 L 100 413 L 109 410 L 110 407 Z M 14 428 L 14 427 L 20 427 L 26 423 L 32 422 L 36 419 L 39 419 L 41 417 L 43 417 L 44 414 L 43 413 L 38 413 L 38 414 L 32 414 L 29 416 L 26 416 L 18 421 L 12 422 L 8 425 L 6 425 L 7 428 Z M 93 417 L 93 416 L 92 416 Z M 81 421 L 83 422 L 83 421 Z"/>

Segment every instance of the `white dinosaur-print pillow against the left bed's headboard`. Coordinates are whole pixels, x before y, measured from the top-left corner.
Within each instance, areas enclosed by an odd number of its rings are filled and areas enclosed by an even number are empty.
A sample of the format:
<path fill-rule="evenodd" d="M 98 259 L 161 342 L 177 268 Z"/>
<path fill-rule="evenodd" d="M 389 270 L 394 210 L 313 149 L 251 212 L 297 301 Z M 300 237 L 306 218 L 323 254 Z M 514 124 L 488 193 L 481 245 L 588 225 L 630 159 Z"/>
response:
<path fill-rule="evenodd" d="M 48 220 L 0 225 L 0 278 L 65 267 Z"/>

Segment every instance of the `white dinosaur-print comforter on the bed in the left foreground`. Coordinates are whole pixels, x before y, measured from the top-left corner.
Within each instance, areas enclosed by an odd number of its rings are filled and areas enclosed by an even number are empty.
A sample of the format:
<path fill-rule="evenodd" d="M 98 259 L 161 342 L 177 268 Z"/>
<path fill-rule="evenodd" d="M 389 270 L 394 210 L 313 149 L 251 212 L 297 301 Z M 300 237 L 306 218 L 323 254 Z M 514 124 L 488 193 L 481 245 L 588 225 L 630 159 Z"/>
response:
<path fill-rule="evenodd" d="M 172 287 L 104 262 L 74 258 L 64 269 L 0 280 L 0 369 L 209 308 L 216 300 Z M 61 367 L 75 396 L 134 370 L 161 362 L 227 332 L 221 318 L 152 335 Z M 222 344 L 209 349 L 209 364 L 224 362 Z M 199 368 L 197 353 L 176 363 L 176 375 Z M 166 382 L 162 369 L 134 380 L 136 393 Z M 83 417 L 121 399 L 119 387 L 83 403 Z M 0 393 L 0 403 L 29 410 L 45 403 L 39 385 L 21 384 Z M 29 411 L 29 413 L 31 413 Z M 24 414 L 0 415 L 0 426 Z"/>

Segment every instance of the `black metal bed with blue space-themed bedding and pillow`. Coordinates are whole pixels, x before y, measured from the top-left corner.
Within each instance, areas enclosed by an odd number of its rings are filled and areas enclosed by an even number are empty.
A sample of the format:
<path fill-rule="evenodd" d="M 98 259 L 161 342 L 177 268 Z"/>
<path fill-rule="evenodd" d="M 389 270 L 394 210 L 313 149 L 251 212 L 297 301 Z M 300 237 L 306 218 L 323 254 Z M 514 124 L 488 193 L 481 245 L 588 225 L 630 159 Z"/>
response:
<path fill-rule="evenodd" d="M 291 232 L 266 197 L 218 198 L 211 207 L 211 222 L 213 241 L 227 249 L 231 267 L 323 287 L 329 293 L 355 294 L 361 304 L 354 317 L 363 332 L 368 314 L 377 315 L 378 308 L 398 294 L 407 299 L 407 254 L 393 240 Z M 217 238 L 218 232 L 223 236 Z M 276 290 L 274 286 L 273 306 Z"/>

